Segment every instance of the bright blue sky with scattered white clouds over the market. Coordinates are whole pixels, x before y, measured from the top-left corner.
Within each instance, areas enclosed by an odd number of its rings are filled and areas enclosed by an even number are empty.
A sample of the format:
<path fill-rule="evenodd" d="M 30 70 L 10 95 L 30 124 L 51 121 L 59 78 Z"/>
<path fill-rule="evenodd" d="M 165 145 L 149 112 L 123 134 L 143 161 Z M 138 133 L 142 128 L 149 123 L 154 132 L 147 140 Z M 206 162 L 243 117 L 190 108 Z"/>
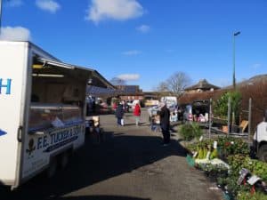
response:
<path fill-rule="evenodd" d="M 267 71 L 266 0 L 2 0 L 0 39 L 30 40 L 58 59 L 151 91 L 175 72 L 191 84 Z"/>

